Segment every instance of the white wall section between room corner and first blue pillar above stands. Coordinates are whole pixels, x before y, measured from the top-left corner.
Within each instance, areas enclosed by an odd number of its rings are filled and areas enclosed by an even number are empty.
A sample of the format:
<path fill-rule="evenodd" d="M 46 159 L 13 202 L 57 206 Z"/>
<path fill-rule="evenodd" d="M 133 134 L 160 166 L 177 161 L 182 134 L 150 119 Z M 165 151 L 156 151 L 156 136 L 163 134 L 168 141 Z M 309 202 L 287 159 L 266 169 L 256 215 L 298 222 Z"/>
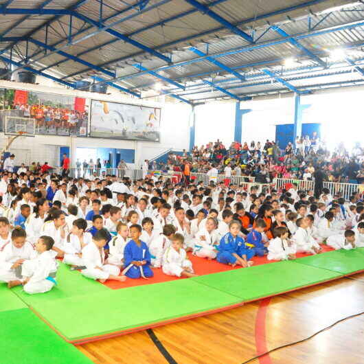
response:
<path fill-rule="evenodd" d="M 225 146 L 234 140 L 236 102 L 209 102 L 195 107 L 195 145 L 220 139 Z"/>

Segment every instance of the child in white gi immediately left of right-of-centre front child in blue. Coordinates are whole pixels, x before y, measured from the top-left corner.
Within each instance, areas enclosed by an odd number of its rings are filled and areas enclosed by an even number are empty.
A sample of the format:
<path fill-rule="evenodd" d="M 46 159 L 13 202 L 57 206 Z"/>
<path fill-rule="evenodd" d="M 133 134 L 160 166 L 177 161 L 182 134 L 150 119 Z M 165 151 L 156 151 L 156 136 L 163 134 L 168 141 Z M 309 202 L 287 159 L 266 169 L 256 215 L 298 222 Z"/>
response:
<path fill-rule="evenodd" d="M 205 227 L 201 227 L 196 234 L 194 255 L 200 258 L 207 258 L 208 260 L 216 258 L 216 245 L 219 242 L 216 225 L 217 221 L 214 218 L 207 218 Z"/>

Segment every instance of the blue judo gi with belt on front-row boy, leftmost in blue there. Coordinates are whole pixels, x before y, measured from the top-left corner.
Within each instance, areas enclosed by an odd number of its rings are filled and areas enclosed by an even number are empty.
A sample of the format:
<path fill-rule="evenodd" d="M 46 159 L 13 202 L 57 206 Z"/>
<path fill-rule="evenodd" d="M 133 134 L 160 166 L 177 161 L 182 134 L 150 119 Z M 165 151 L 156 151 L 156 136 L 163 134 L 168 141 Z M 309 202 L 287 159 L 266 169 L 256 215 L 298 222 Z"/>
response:
<path fill-rule="evenodd" d="M 136 266 L 132 262 L 136 260 L 141 262 L 146 261 L 146 264 Z M 141 242 L 140 247 L 134 240 L 130 240 L 124 249 L 124 271 L 122 273 L 129 278 L 148 278 L 153 276 L 153 271 L 150 269 L 150 252 L 148 245 Z"/>

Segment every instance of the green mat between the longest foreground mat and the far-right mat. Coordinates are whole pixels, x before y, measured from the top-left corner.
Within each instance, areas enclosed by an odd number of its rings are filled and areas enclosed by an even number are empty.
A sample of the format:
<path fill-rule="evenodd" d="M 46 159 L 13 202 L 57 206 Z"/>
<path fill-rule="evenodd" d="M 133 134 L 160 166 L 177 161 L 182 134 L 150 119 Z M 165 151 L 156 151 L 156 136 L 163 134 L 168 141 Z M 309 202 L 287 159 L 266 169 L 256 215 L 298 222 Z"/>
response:
<path fill-rule="evenodd" d="M 296 262 L 277 262 L 192 278 L 244 301 L 277 295 L 295 288 L 340 277 L 340 273 Z"/>

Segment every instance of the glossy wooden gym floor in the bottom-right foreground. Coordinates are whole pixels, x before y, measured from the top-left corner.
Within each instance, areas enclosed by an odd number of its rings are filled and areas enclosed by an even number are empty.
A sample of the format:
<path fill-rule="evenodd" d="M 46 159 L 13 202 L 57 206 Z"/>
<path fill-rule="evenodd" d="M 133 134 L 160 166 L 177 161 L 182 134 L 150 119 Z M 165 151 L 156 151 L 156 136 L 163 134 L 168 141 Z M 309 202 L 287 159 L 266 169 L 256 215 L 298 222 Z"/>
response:
<path fill-rule="evenodd" d="M 351 278 L 351 279 L 350 279 Z M 241 364 L 364 311 L 364 273 L 153 329 L 177 363 Z M 363 364 L 364 315 L 251 363 Z M 168 363 L 147 332 L 78 346 L 94 363 Z"/>

